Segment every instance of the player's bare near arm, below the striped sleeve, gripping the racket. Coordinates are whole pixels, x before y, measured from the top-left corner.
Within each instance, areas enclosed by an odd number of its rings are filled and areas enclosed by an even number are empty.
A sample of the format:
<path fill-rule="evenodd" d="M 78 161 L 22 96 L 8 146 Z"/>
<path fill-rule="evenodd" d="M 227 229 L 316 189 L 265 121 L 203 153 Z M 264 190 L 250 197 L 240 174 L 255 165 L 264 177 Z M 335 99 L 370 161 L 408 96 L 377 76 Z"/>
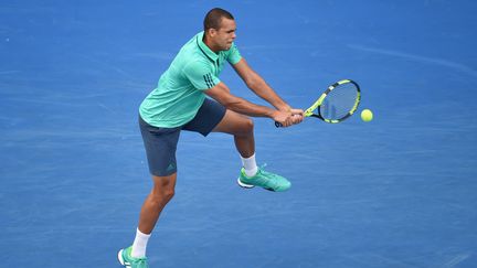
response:
<path fill-rule="evenodd" d="M 269 117 L 273 120 L 283 124 L 285 127 L 293 125 L 290 111 L 277 110 L 266 106 L 252 104 L 241 97 L 234 96 L 230 93 L 229 87 L 223 82 L 220 82 L 214 87 L 204 90 L 204 93 L 225 106 L 225 108 L 239 114 L 252 117 Z"/>

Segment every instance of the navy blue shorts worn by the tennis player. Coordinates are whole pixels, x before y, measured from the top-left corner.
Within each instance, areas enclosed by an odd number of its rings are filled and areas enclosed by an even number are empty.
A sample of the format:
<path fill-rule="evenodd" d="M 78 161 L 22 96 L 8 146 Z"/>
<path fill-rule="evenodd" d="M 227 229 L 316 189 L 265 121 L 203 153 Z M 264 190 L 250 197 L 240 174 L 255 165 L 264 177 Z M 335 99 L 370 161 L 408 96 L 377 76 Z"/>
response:
<path fill-rule="evenodd" d="M 205 98 L 195 117 L 177 128 L 150 126 L 139 116 L 139 128 L 146 148 L 149 172 L 166 176 L 177 172 L 176 150 L 181 130 L 194 131 L 208 136 L 225 115 L 225 107 Z"/>

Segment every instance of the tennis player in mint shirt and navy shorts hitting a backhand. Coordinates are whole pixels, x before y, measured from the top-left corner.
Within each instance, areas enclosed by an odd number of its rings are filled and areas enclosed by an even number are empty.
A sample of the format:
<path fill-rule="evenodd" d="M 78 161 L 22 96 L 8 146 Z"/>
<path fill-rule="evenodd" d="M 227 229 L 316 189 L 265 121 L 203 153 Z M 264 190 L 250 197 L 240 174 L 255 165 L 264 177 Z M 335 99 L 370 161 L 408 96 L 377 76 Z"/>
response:
<path fill-rule="evenodd" d="M 254 125 L 250 117 L 268 117 L 284 127 L 299 124 L 304 111 L 293 109 L 255 73 L 234 44 L 235 21 L 223 9 L 212 9 L 204 19 L 204 31 L 179 51 L 159 84 L 139 108 L 139 126 L 146 147 L 153 186 L 139 216 L 132 245 L 118 253 L 121 265 L 148 267 L 146 246 L 159 214 L 174 194 L 176 148 L 182 130 L 204 137 L 210 132 L 234 136 L 243 168 L 239 185 L 261 186 L 282 192 L 290 182 L 257 167 Z M 231 94 L 219 75 L 229 62 L 247 87 L 274 108 L 252 104 Z M 250 116 L 250 117 L 248 117 Z"/>

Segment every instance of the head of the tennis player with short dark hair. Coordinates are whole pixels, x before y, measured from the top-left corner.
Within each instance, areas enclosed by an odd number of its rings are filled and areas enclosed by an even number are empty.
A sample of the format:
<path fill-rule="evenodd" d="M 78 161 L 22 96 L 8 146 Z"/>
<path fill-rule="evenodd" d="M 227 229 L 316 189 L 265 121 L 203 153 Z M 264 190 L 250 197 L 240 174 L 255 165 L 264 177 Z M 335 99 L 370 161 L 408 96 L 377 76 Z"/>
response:
<path fill-rule="evenodd" d="M 223 9 L 214 8 L 204 18 L 204 35 L 213 51 L 226 51 L 235 40 L 235 20 Z"/>

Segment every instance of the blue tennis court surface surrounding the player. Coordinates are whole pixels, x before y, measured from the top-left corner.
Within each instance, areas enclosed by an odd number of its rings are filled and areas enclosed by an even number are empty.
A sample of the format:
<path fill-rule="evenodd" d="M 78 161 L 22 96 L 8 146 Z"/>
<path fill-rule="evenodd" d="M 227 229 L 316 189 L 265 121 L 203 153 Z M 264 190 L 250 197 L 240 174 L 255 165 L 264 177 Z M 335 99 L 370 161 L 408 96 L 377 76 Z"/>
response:
<path fill-rule="evenodd" d="M 214 7 L 290 105 L 351 78 L 374 120 L 256 119 L 257 161 L 293 182 L 285 193 L 236 185 L 231 136 L 183 132 L 151 267 L 477 267 L 465 0 L 2 1 L 1 267 L 120 267 L 152 184 L 138 106 Z M 231 67 L 221 79 L 264 104 Z"/>

